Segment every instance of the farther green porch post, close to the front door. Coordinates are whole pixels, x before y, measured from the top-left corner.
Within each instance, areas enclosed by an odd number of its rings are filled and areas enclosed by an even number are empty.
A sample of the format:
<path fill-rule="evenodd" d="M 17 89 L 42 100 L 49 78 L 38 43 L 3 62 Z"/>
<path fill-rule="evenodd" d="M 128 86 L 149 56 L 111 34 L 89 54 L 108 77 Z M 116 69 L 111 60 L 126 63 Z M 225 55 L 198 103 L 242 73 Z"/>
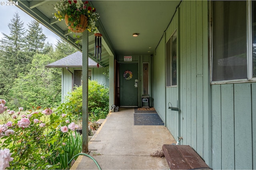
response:
<path fill-rule="evenodd" d="M 112 108 L 111 106 L 114 105 L 114 56 L 110 55 L 109 56 L 109 67 L 108 67 L 108 71 L 109 71 L 109 110 Z"/>

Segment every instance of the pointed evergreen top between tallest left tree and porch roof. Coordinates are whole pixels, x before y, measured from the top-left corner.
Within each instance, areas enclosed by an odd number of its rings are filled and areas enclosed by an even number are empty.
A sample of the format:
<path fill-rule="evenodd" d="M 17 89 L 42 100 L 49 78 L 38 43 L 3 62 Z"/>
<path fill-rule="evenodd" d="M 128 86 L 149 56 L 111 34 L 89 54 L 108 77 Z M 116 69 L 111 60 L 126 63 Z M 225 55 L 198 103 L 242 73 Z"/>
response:
<path fill-rule="evenodd" d="M 42 53 L 46 36 L 44 35 L 43 29 L 40 27 L 39 22 L 32 20 L 28 24 L 27 32 L 27 50 L 31 53 L 30 55 Z"/>

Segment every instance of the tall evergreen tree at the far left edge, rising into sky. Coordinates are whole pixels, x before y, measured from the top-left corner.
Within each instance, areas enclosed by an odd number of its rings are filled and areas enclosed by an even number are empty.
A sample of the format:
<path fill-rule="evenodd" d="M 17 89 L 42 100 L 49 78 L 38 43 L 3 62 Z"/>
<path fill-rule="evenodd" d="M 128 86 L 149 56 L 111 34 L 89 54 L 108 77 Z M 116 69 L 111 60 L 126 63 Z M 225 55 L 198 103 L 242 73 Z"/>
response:
<path fill-rule="evenodd" d="M 8 23 L 10 35 L 2 33 L 0 40 L 0 97 L 7 98 L 8 90 L 12 87 L 14 79 L 19 73 L 26 70 L 29 61 L 25 49 L 25 28 L 16 12 Z M 2 98 L 3 98 L 2 97 Z"/>

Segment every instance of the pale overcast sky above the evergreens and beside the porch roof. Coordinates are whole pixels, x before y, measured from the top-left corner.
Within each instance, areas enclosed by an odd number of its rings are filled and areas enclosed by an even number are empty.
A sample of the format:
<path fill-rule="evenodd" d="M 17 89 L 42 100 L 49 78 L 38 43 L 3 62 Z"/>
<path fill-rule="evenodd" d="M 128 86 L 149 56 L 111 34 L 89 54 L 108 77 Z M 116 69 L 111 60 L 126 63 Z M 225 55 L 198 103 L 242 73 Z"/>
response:
<path fill-rule="evenodd" d="M 27 29 L 27 24 L 34 20 L 28 14 L 20 10 L 20 8 L 16 6 L 7 6 L 7 0 L 0 0 L 0 39 L 3 38 L 3 34 L 10 35 L 10 29 L 8 27 L 8 23 L 11 22 L 12 18 L 14 17 L 14 13 L 18 12 L 20 19 L 24 22 L 24 27 Z M 4 5 L 3 5 L 4 4 Z M 44 35 L 47 37 L 46 42 L 56 44 L 57 40 L 60 39 L 56 34 L 48 30 L 46 27 L 40 24 L 43 29 Z M 54 45 L 55 47 L 55 45 Z"/>

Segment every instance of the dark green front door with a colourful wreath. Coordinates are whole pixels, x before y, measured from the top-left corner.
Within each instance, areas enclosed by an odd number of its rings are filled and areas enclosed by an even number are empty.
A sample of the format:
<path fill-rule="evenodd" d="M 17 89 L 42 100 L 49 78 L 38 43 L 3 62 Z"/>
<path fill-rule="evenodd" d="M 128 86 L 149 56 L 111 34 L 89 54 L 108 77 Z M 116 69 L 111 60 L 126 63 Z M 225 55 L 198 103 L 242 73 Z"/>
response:
<path fill-rule="evenodd" d="M 138 107 L 138 63 L 119 64 L 120 106 Z"/>

